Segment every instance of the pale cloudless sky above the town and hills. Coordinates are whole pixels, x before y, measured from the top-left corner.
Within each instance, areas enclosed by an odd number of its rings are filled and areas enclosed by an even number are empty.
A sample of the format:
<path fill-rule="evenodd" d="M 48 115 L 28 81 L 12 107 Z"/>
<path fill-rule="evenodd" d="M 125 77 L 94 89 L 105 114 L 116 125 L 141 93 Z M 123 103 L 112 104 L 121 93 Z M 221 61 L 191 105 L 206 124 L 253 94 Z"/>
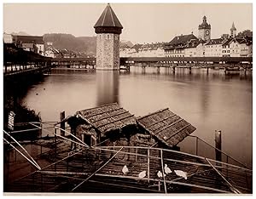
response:
<path fill-rule="evenodd" d="M 68 33 L 96 36 L 93 26 L 107 3 L 4 3 L 3 31 L 30 35 Z M 198 36 L 202 17 L 212 26 L 212 38 L 253 30 L 252 3 L 110 3 L 124 26 L 121 40 L 132 43 L 169 42 L 193 31 Z"/>

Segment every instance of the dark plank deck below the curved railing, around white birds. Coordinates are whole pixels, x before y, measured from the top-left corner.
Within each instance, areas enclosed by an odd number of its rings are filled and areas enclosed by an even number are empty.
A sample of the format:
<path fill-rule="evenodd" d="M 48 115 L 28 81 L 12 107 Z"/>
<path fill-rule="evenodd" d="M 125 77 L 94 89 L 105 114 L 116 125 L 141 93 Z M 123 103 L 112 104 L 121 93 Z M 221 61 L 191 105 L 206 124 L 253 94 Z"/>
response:
<path fill-rule="evenodd" d="M 172 173 L 160 178 L 157 173 L 164 172 L 165 164 L 172 169 Z M 125 165 L 129 168 L 126 174 L 122 172 Z M 187 179 L 177 176 L 174 170 L 186 172 Z M 143 179 L 138 177 L 142 171 L 146 172 Z M 66 156 L 6 185 L 4 191 L 252 193 L 252 178 L 253 171 L 247 168 L 180 151 L 105 146 L 84 148 Z"/>

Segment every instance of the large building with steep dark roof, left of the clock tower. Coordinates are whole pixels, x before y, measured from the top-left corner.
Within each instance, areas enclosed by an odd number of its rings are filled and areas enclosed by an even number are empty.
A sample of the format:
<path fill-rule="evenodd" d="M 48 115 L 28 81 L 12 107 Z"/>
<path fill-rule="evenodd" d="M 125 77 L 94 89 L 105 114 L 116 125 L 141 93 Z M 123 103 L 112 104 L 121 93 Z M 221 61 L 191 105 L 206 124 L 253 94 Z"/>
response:
<path fill-rule="evenodd" d="M 193 47 L 193 43 L 198 42 L 198 38 L 192 33 L 189 35 L 180 35 L 172 39 L 170 43 L 165 44 L 165 56 L 166 57 L 184 57 L 185 48 L 189 46 Z M 196 46 L 195 46 L 196 47 Z M 187 53 L 190 54 L 190 53 Z M 191 50 L 191 54 L 194 54 L 194 50 Z"/>

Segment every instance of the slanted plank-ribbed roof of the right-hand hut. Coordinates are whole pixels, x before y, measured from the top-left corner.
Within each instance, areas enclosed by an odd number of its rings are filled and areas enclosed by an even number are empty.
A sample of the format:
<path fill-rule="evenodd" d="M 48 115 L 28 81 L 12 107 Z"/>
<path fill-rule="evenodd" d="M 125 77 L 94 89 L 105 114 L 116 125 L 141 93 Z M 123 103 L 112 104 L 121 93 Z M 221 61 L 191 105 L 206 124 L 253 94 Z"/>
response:
<path fill-rule="evenodd" d="M 138 117 L 137 122 L 149 134 L 171 147 L 177 145 L 196 129 L 168 108 Z"/>

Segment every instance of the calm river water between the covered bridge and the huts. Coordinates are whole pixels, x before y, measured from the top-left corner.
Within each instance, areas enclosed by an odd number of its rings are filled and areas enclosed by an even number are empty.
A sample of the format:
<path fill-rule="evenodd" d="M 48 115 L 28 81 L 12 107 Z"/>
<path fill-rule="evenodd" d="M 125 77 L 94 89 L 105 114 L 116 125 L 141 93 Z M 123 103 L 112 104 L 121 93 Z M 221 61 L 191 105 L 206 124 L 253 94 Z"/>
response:
<path fill-rule="evenodd" d="M 131 67 L 131 71 L 82 71 L 55 69 L 33 85 L 21 100 L 43 121 L 58 121 L 97 105 L 118 102 L 135 116 L 168 107 L 195 126 L 192 135 L 214 143 L 215 130 L 222 131 L 222 150 L 252 167 L 253 76 L 252 72 L 225 75 L 222 70 Z M 190 138 L 189 138 L 190 139 Z M 195 143 L 185 139 L 181 148 L 191 151 Z M 192 143 L 192 144 L 191 144 Z M 207 148 L 198 146 L 199 151 Z"/>

